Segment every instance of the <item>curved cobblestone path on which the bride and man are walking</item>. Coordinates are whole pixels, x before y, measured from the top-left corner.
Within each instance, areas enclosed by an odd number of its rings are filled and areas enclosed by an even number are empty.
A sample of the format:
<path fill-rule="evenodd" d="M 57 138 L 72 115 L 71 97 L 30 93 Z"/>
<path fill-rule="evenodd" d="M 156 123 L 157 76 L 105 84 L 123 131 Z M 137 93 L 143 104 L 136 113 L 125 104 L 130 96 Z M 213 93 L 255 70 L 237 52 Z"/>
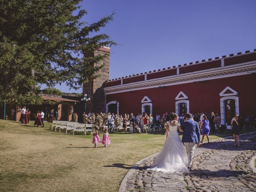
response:
<path fill-rule="evenodd" d="M 231 138 L 196 148 L 188 174 L 148 171 L 156 154 L 150 156 L 128 172 L 120 192 L 256 192 L 256 173 L 250 166 L 256 156 L 256 133 L 240 139 L 239 148 L 232 147 Z"/>

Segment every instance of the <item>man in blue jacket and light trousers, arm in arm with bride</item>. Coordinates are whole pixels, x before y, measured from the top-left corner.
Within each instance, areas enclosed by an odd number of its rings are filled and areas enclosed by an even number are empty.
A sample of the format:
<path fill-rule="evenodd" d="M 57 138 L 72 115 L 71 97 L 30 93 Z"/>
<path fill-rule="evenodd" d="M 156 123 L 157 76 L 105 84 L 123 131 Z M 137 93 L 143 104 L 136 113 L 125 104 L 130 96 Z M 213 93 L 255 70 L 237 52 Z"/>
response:
<path fill-rule="evenodd" d="M 194 150 L 200 141 L 200 130 L 198 123 L 192 119 L 190 113 L 186 114 L 186 121 L 182 123 L 181 128 L 183 130 L 182 143 L 184 143 L 188 157 L 188 169 L 191 169 Z"/>

